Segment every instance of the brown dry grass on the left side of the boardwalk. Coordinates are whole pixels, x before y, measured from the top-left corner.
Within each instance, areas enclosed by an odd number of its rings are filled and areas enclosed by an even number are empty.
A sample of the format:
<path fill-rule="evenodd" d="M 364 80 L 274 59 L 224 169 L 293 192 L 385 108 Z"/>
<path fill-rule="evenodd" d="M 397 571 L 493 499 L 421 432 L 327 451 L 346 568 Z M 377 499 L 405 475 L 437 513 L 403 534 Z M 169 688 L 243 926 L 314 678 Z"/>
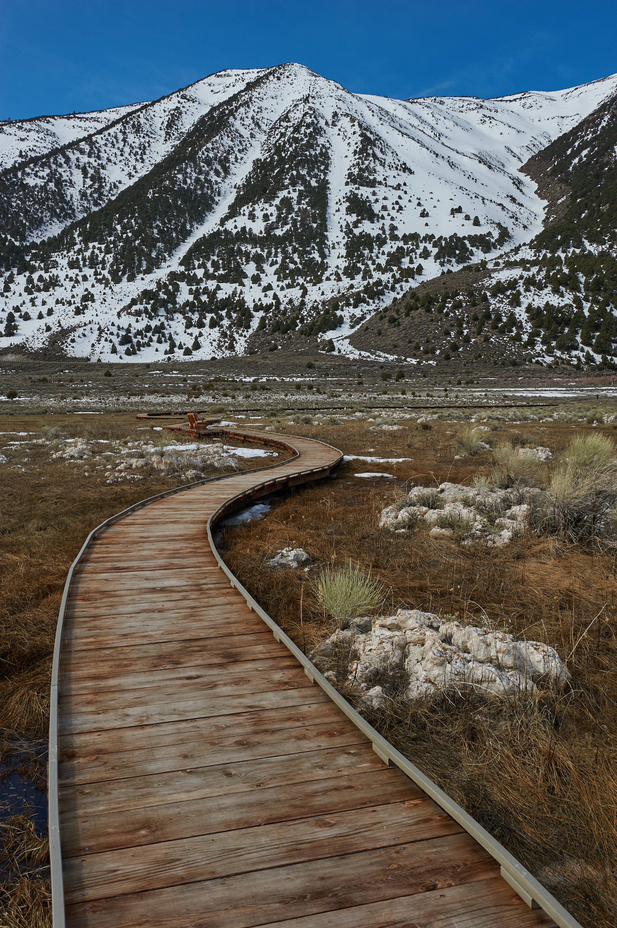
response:
<path fill-rule="evenodd" d="M 146 436 L 169 444 L 178 437 L 150 432 L 140 424 L 133 415 L 58 415 L 51 422 L 48 416 L 0 417 L 0 432 L 36 432 L 28 436 L 0 435 L 0 446 L 13 438 L 54 441 L 64 436 L 135 441 Z M 226 444 L 235 443 L 227 440 Z M 83 464 L 52 460 L 52 451 L 51 445 L 6 449 L 4 453 L 12 459 L 2 465 L 0 496 L 2 758 L 11 772 L 19 770 L 44 789 L 45 755 L 30 752 L 24 760 L 23 740 L 47 738 L 54 637 L 71 562 L 86 535 L 99 522 L 139 499 L 184 483 L 178 474 L 165 476 L 144 468 L 140 471 L 144 479 L 138 483 L 107 484 L 94 474 L 85 476 Z M 285 453 L 280 452 L 277 459 L 284 457 Z M 270 458 L 239 458 L 238 469 L 249 470 L 271 462 Z M 22 817 L 10 818 L 3 826 L 9 872 L 5 882 L 0 883 L 2 928 L 48 928 L 51 924 L 49 883 L 40 867 L 34 866 L 35 860 L 43 863 L 46 859 L 46 844 L 32 829 L 29 831 Z"/>

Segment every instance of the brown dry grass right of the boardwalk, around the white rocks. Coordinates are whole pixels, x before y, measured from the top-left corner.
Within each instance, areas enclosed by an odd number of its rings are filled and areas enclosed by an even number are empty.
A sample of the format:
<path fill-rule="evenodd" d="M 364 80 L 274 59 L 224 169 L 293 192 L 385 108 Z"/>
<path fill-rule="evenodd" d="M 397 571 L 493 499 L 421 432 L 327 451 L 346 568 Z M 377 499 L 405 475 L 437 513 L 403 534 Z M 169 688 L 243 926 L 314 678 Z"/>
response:
<path fill-rule="evenodd" d="M 456 536 L 431 538 L 425 526 L 405 535 L 379 531 L 381 509 L 404 485 L 472 483 L 479 468 L 490 473 L 489 453 L 453 460 L 458 449 L 445 424 L 386 438 L 376 438 L 362 424 L 296 428 L 347 454 L 375 448 L 374 454 L 397 452 L 414 460 L 388 465 L 399 477 L 397 488 L 392 481 L 353 478 L 360 462 L 352 461 L 336 481 L 283 498 L 263 522 L 227 530 L 229 566 L 306 652 L 328 637 L 331 624 L 307 595 L 306 574 L 273 574 L 265 567 L 277 548 L 288 545 L 311 554 L 309 578 L 319 565 L 347 560 L 370 569 L 388 590 L 384 610 L 421 607 L 556 647 L 572 674 L 567 695 L 544 692 L 536 699 L 501 702 L 448 693 L 410 706 L 402 698 L 403 681 L 384 679 L 379 683 L 389 696 L 388 708 L 370 720 L 519 857 L 585 928 L 610 928 L 617 922 L 614 552 L 532 534 L 505 548 L 465 548 Z M 529 432 L 533 444 L 557 454 L 572 439 L 565 426 L 530 426 Z M 504 430 L 501 437 L 508 442 L 511 435 Z"/>

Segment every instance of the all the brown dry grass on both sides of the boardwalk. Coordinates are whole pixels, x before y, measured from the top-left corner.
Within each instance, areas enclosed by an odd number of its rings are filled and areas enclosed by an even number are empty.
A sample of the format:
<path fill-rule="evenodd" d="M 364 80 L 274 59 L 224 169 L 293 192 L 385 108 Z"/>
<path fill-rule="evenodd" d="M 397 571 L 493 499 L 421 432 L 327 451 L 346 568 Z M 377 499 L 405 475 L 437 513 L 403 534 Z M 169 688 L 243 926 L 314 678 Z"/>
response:
<path fill-rule="evenodd" d="M 31 432 L 49 425 L 49 417 L 11 417 L 0 428 Z M 93 438 L 145 434 L 132 416 L 120 415 L 85 422 L 57 416 L 52 427 L 73 436 L 87 429 Z M 455 423 L 382 432 L 365 422 L 316 427 L 282 420 L 279 428 L 319 438 L 346 454 L 411 460 L 387 465 L 394 481 L 371 482 L 354 478 L 354 471 L 384 470 L 383 465 L 351 461 L 338 479 L 281 500 L 263 522 L 225 530 L 231 568 L 307 652 L 331 631 L 307 586 L 316 569 L 308 576 L 270 572 L 265 561 L 277 548 L 305 548 L 315 567 L 359 563 L 385 587 L 387 611 L 423 606 L 464 622 L 488 618 L 495 627 L 557 647 L 573 679 L 572 692 L 559 700 L 443 697 L 410 707 L 400 699 L 400 681 L 384 680 L 390 708 L 371 721 L 520 857 L 585 928 L 613 926 L 615 556 L 533 535 L 489 550 L 461 548 L 456 538 L 432 539 L 424 526 L 408 535 L 380 531 L 381 509 L 413 483 L 471 484 L 478 473 L 490 476 L 488 452 L 455 460 L 460 450 Z M 530 426 L 526 444 L 559 453 L 572 432 L 567 425 Z M 516 442 L 517 433 L 506 427 L 495 438 Z M 96 483 L 79 466 L 49 458 L 47 449 L 35 445 L 11 462 L 29 472 L 6 465 L 3 470 L 0 729 L 9 741 L 46 736 L 59 600 L 85 535 L 112 513 L 174 485 L 173 477 L 156 472 L 137 485 Z M 248 459 L 240 466 L 259 463 Z M 1 925 L 43 928 L 49 924 L 48 884 L 14 875 L 0 887 L 0 907 Z"/>

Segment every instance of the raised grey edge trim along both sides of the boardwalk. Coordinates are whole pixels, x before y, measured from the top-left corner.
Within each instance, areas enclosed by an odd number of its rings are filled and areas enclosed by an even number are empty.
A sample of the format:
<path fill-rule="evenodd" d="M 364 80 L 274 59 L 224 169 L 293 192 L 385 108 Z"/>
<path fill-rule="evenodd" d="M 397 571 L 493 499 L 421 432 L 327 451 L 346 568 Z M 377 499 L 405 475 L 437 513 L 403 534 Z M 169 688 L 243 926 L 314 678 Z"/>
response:
<path fill-rule="evenodd" d="M 251 435 L 253 437 L 254 433 L 250 432 L 239 432 L 238 429 L 225 429 L 225 435 L 229 437 L 240 437 L 242 434 Z M 260 436 L 262 437 L 262 436 Z M 274 436 L 272 436 L 274 439 Z M 285 435 L 284 437 L 293 440 L 295 436 Z M 270 436 L 263 436 L 263 444 L 275 444 L 274 441 L 269 441 Z M 315 441 L 315 439 L 303 439 L 303 441 Z M 276 443 L 280 446 L 280 443 Z M 332 447 L 332 445 L 327 445 L 325 442 L 316 442 L 319 445 L 326 445 L 327 447 Z M 283 463 L 289 463 L 289 460 L 294 460 L 295 458 L 300 458 L 300 452 L 291 444 L 287 445 L 290 451 L 295 452 L 291 458 L 288 458 L 285 462 L 279 461 L 276 464 L 267 465 L 263 468 L 255 468 L 253 470 L 244 470 L 243 473 L 262 473 L 264 470 L 273 470 L 279 467 Z M 495 858 L 495 860 L 501 865 L 501 875 L 511 886 L 511 888 L 518 893 L 519 896 L 527 903 L 531 908 L 540 908 L 544 909 L 547 915 L 549 915 L 554 922 L 559 925 L 559 928 L 581 928 L 579 922 L 567 911 L 563 906 L 558 902 L 558 900 L 548 892 L 548 890 L 539 883 L 535 877 L 527 870 L 516 857 L 513 857 L 508 850 L 499 844 L 495 838 L 489 834 L 482 825 L 471 818 L 469 813 L 465 811 L 461 806 L 459 806 L 447 793 L 444 793 L 436 783 L 433 783 L 429 777 L 425 776 L 414 764 L 412 764 L 407 758 L 396 750 L 389 741 L 386 741 L 383 738 L 379 731 L 370 726 L 366 719 L 363 718 L 358 712 L 353 709 L 349 702 L 347 702 L 338 690 L 328 683 L 326 677 L 319 673 L 315 665 L 309 661 L 308 657 L 298 648 L 298 646 L 285 634 L 285 632 L 276 625 L 274 619 L 272 619 L 267 612 L 256 602 L 255 599 L 251 597 L 251 594 L 242 586 L 237 577 L 232 574 L 229 570 L 225 561 L 221 558 L 214 545 L 212 539 L 212 527 L 214 524 L 221 519 L 225 512 L 229 509 L 237 509 L 239 504 L 247 498 L 254 497 L 255 491 L 261 491 L 259 495 L 264 495 L 264 493 L 271 492 L 275 490 L 276 484 L 279 486 L 289 483 L 298 477 L 309 478 L 311 475 L 314 475 L 315 478 L 320 478 L 327 476 L 331 470 L 336 468 L 342 460 L 341 451 L 338 448 L 332 448 L 332 450 L 337 451 L 339 457 L 335 458 L 333 461 L 326 465 L 322 465 L 316 468 L 309 469 L 300 469 L 295 473 L 286 474 L 281 478 L 274 478 L 268 481 L 260 481 L 254 483 L 250 488 L 242 491 L 241 493 L 230 496 L 225 502 L 216 509 L 207 523 L 208 531 L 208 540 L 212 548 L 212 553 L 216 559 L 219 569 L 222 570 L 225 575 L 229 578 L 230 585 L 238 590 L 240 596 L 246 600 L 249 608 L 255 612 L 259 617 L 264 621 L 272 631 L 276 641 L 281 642 L 285 647 L 293 654 L 293 656 L 302 664 L 304 668 L 304 673 L 307 677 L 313 682 L 318 684 L 322 690 L 328 695 L 328 697 L 334 702 L 341 711 L 347 715 L 347 717 L 353 722 L 353 724 L 358 728 L 366 738 L 368 738 L 373 746 L 373 751 L 379 755 L 381 760 L 386 764 L 394 764 L 396 767 L 399 767 L 410 780 L 413 780 L 418 786 L 424 790 L 431 799 L 433 799 L 439 806 L 443 808 L 444 812 L 447 812 L 452 818 L 461 825 L 465 831 L 474 838 L 478 844 L 480 844 L 484 850 Z M 138 503 L 135 503 L 133 506 L 128 507 L 127 509 L 122 509 L 121 512 L 118 512 L 116 515 L 111 516 L 109 519 L 106 519 L 105 522 L 101 522 L 100 525 L 97 525 L 95 529 L 87 536 L 84 541 L 84 545 L 81 548 L 79 554 L 71 564 L 69 574 L 67 576 L 66 583 L 64 585 L 64 592 L 62 594 L 62 600 L 60 603 L 60 609 L 58 613 L 58 625 L 56 629 L 56 639 L 54 644 L 54 658 L 52 663 L 52 672 L 51 672 L 51 692 L 50 692 L 50 707 L 49 707 L 49 767 L 48 767 L 48 785 L 47 785 L 47 794 L 48 794 L 48 830 L 49 830 L 49 858 L 51 865 L 51 893 L 52 893 L 52 919 L 53 919 L 53 928 L 65 928 L 65 908 L 64 908 L 64 881 L 62 874 L 62 851 L 60 844 L 60 830 L 59 830 L 59 803 L 58 803 L 58 666 L 59 666 L 59 657 L 60 657 L 60 647 L 62 643 L 62 631 L 64 627 L 64 615 L 66 610 L 67 599 L 69 597 L 69 590 L 71 588 L 71 581 L 75 573 L 75 568 L 82 560 L 85 551 L 89 548 L 93 538 L 103 529 L 107 528 L 112 522 L 116 522 L 119 519 L 126 518 L 134 513 L 137 509 L 142 509 L 147 506 L 148 503 L 153 502 L 156 499 L 161 499 L 164 496 L 173 496 L 176 493 L 181 493 L 186 490 L 190 490 L 196 486 L 203 486 L 204 483 L 214 483 L 217 481 L 222 481 L 228 477 L 236 476 L 236 474 L 221 474 L 217 477 L 210 477 L 205 480 L 200 480 L 197 483 L 187 483 L 184 486 L 174 487 L 172 490 L 166 490 L 163 493 L 157 494 L 156 496 L 148 496 L 148 498 L 141 500 Z"/>

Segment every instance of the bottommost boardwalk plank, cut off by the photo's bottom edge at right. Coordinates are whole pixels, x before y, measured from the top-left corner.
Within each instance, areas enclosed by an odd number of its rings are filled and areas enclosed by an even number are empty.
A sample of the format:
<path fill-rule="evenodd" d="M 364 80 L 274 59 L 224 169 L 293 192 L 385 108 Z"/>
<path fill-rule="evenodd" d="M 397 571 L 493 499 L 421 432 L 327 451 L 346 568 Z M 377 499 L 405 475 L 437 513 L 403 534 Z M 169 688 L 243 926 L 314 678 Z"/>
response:
<path fill-rule="evenodd" d="M 441 888 L 268 922 L 263 928 L 555 928 L 546 912 L 529 909 L 501 877 Z"/>

